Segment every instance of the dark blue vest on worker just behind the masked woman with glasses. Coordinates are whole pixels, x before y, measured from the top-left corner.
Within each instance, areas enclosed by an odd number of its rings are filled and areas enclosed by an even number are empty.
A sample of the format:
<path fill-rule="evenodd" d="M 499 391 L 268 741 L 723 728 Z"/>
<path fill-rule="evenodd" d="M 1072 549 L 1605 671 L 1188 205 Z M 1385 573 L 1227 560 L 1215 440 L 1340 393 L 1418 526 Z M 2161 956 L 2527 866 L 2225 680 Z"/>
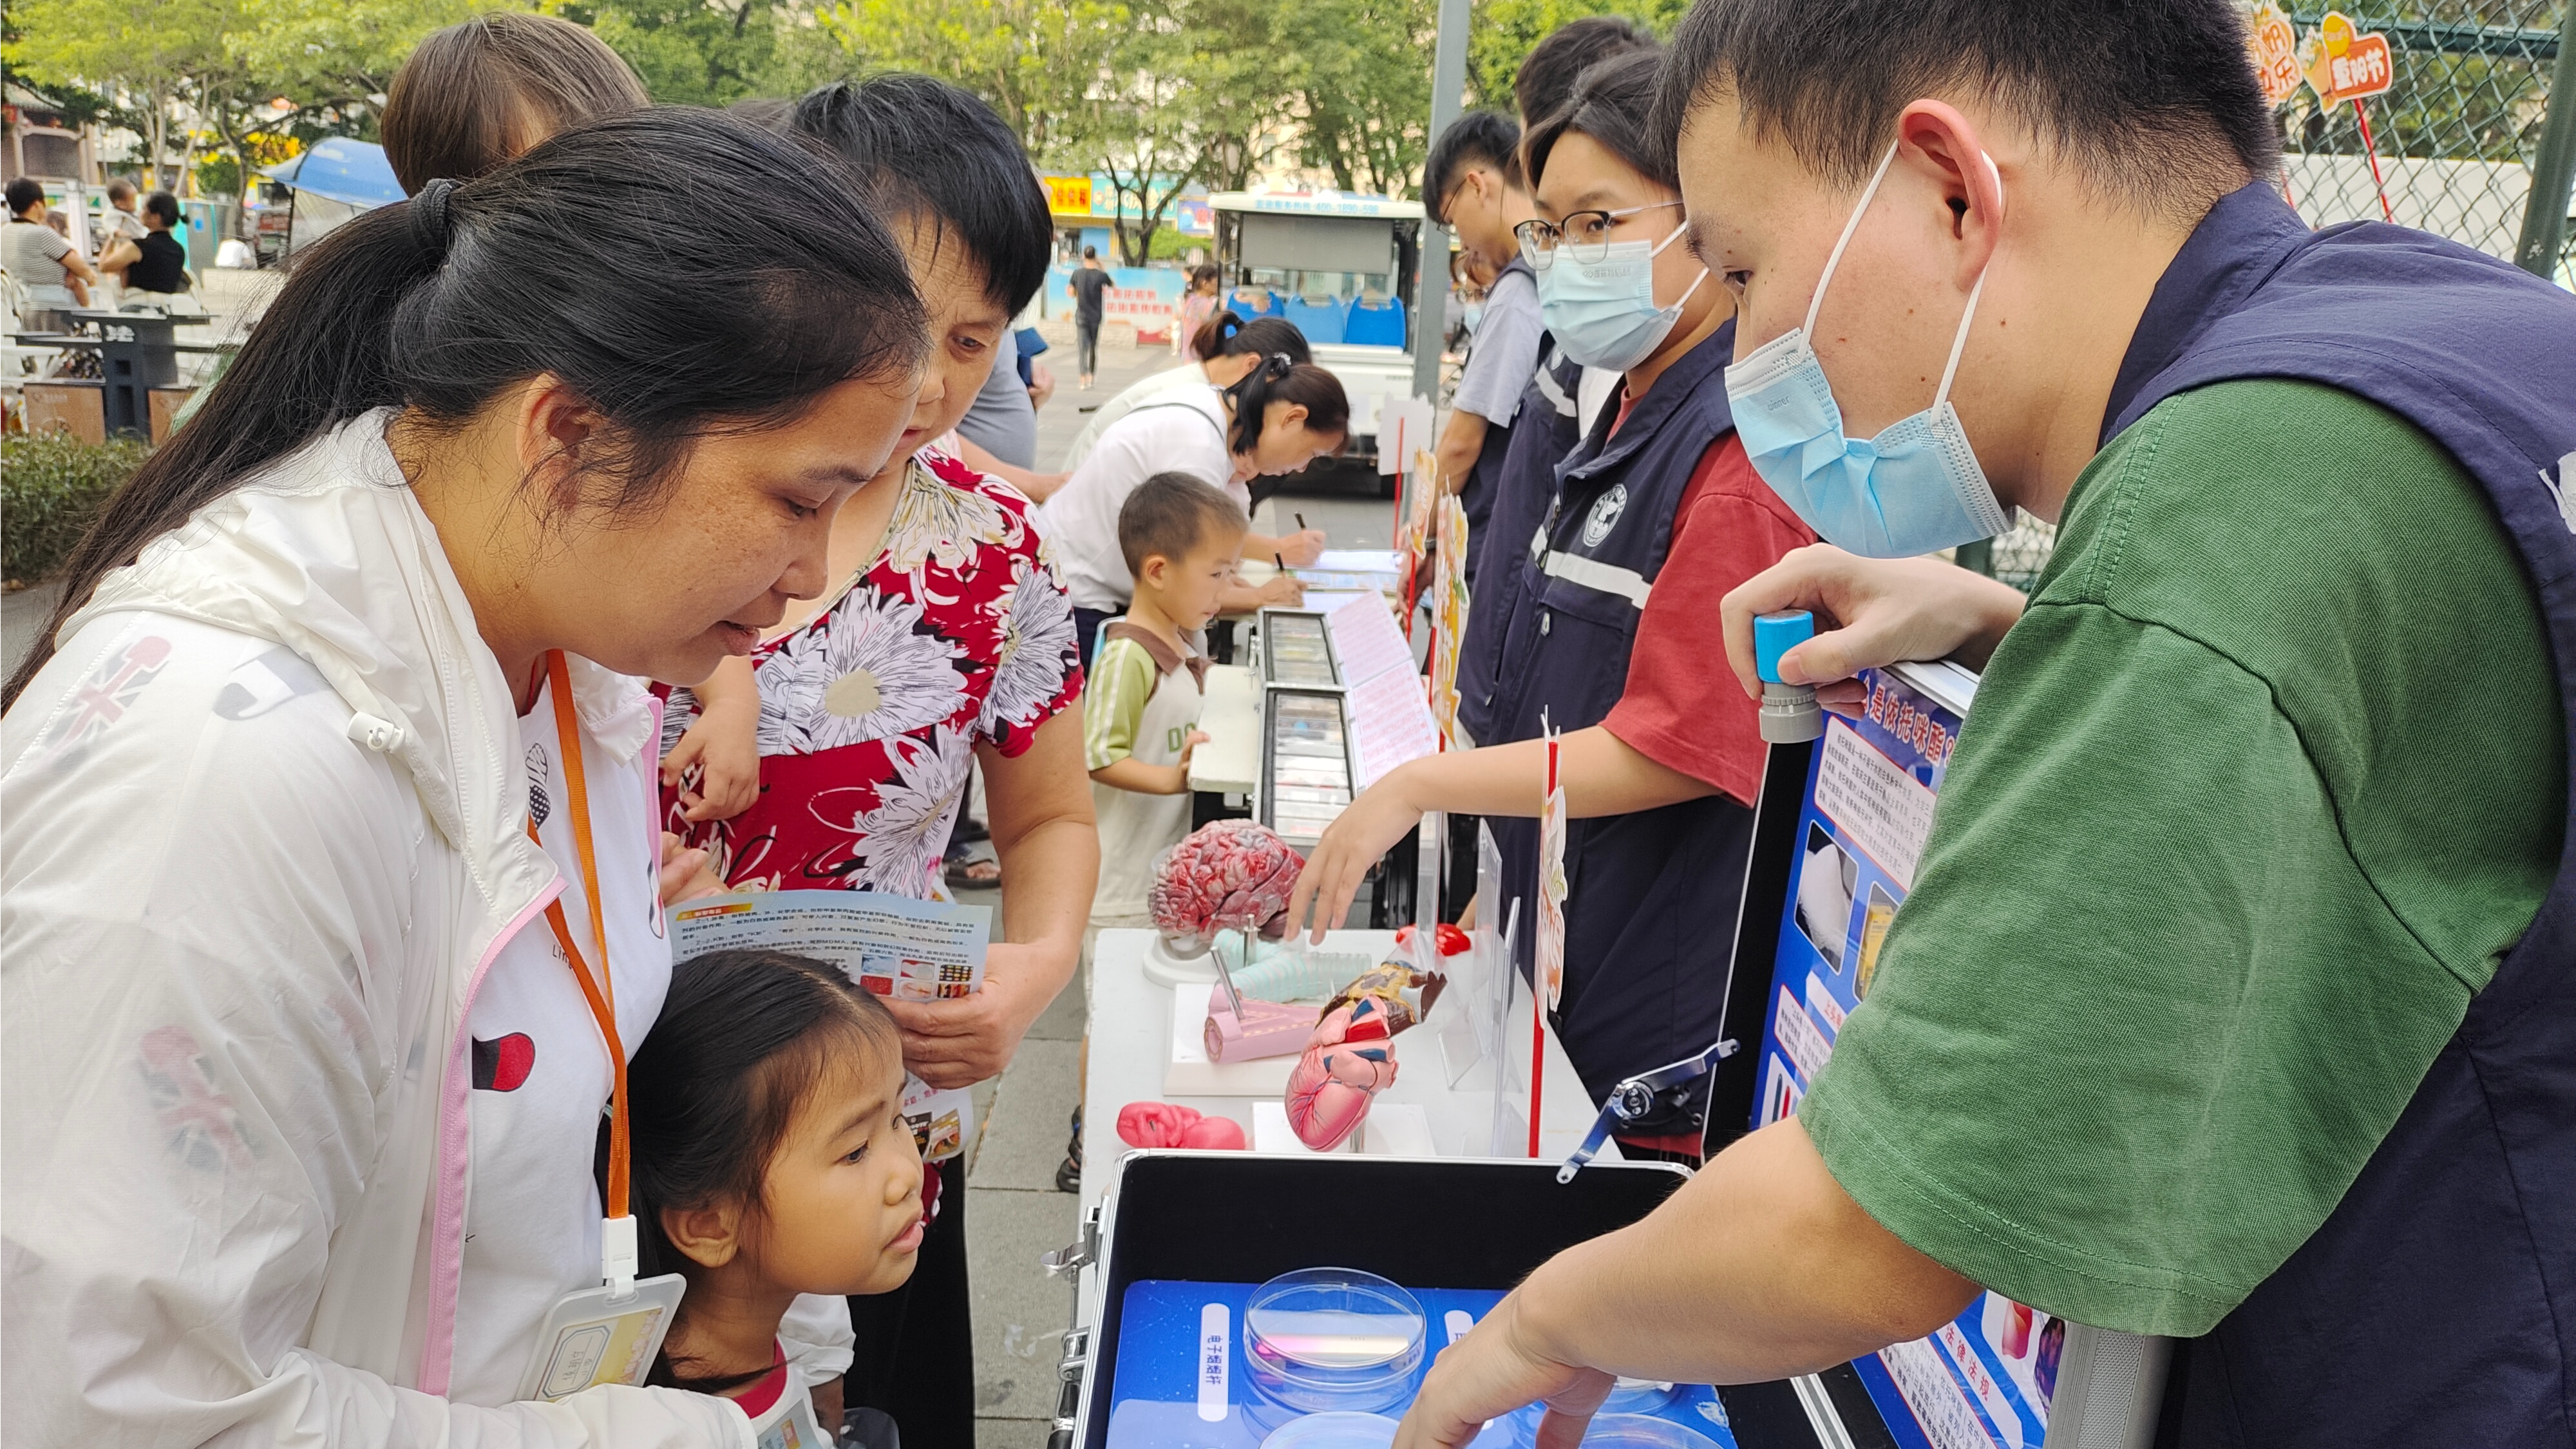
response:
<path fill-rule="evenodd" d="M 1468 521 L 1468 549 L 1476 552 L 1476 583 L 1468 585 L 1466 639 L 1458 645 L 1458 722 L 1476 743 L 1494 740 L 1494 670 L 1512 611 L 1528 593 L 1530 536 L 1556 503 L 1556 464 L 1564 462 L 1582 428 L 1574 420 L 1574 387 L 1584 369 L 1556 356 L 1556 343 L 1538 345 L 1538 376 L 1520 394 L 1512 441 L 1497 451 L 1492 438 L 1476 467 L 1492 459 L 1494 500 L 1486 521 Z"/>

